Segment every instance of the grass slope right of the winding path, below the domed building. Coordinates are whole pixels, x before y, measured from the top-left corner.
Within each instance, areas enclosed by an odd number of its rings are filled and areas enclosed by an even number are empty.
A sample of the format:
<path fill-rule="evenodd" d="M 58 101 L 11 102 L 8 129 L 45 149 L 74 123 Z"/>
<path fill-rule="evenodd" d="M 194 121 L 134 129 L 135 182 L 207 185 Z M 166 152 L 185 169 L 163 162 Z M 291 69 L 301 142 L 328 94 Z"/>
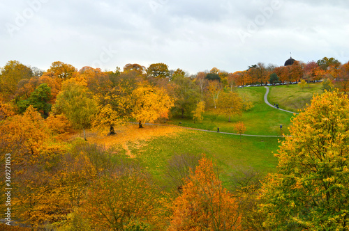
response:
<path fill-rule="evenodd" d="M 314 93 L 322 94 L 322 83 L 309 83 L 304 89 L 297 84 L 269 87 L 268 101 L 279 104 L 281 109 L 298 112 L 311 103 Z"/>

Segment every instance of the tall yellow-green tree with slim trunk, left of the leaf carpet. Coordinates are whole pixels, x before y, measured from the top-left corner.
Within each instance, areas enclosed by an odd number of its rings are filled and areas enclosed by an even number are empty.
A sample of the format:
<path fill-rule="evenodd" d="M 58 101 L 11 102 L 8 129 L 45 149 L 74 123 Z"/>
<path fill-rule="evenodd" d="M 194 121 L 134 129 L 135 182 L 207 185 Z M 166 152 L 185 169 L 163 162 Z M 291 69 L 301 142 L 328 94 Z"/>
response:
<path fill-rule="evenodd" d="M 85 140 L 87 140 L 85 129 L 91 125 L 92 116 L 96 111 L 97 104 L 91 98 L 86 81 L 69 79 L 62 83 L 62 92 L 57 95 L 54 113 L 64 113 L 73 126 L 83 129 Z"/>

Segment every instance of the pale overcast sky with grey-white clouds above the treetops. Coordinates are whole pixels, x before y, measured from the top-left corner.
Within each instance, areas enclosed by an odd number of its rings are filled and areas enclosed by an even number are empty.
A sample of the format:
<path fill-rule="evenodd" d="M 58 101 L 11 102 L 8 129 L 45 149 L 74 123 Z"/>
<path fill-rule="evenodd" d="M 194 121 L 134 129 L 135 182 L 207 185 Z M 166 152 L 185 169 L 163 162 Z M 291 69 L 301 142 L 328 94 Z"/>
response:
<path fill-rule="evenodd" d="M 194 74 L 283 65 L 290 52 L 349 61 L 348 0 L 1 1 L 0 24 L 0 67 L 166 63 Z"/>

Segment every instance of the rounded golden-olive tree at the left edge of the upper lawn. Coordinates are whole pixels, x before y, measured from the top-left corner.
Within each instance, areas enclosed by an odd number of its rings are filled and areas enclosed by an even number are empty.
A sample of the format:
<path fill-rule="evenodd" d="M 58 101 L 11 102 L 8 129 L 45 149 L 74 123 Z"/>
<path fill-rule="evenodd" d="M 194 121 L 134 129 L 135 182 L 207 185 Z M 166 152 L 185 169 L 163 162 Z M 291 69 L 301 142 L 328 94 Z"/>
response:
<path fill-rule="evenodd" d="M 222 93 L 221 97 L 218 99 L 218 113 L 230 118 L 234 115 L 241 115 L 242 113 L 242 99 L 239 94 L 229 92 Z"/>

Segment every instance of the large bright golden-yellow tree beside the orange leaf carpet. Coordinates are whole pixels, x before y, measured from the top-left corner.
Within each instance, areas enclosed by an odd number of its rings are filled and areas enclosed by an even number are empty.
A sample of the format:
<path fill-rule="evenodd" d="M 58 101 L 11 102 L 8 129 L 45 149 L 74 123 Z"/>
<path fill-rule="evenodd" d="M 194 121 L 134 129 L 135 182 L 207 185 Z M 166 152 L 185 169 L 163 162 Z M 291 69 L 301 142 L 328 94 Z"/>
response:
<path fill-rule="evenodd" d="M 149 85 L 138 86 L 132 92 L 131 117 L 142 128 L 144 122 L 154 122 L 158 118 L 168 118 L 173 99 L 165 90 Z"/>

